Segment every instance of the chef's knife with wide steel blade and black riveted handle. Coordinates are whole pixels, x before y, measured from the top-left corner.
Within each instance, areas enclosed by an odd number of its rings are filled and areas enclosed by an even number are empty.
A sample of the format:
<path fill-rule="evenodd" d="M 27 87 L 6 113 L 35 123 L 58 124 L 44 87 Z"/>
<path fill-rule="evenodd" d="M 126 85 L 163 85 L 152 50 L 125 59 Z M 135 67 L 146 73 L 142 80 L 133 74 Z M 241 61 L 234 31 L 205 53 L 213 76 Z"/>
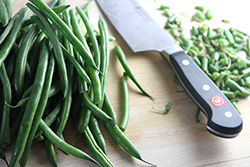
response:
<path fill-rule="evenodd" d="M 169 62 L 193 101 L 207 117 L 207 130 L 233 138 L 243 121 L 220 89 L 143 9 L 137 0 L 96 0 L 134 52 L 157 51 Z"/>

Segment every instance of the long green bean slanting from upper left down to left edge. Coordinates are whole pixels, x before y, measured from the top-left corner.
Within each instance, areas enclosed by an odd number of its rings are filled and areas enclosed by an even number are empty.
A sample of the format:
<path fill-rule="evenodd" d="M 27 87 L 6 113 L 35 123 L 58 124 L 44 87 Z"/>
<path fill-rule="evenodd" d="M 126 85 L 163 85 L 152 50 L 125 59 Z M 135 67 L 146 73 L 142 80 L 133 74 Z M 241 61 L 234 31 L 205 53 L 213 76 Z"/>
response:
<path fill-rule="evenodd" d="M 22 24 L 26 17 L 28 16 L 28 8 L 22 8 L 19 10 L 17 15 L 17 19 L 15 20 L 15 23 L 12 27 L 11 32 L 9 33 L 8 37 L 4 40 L 4 43 L 1 46 L 0 50 L 0 66 L 4 62 L 4 60 L 7 58 L 9 55 L 11 48 L 13 47 L 17 36 L 19 35 L 19 31 L 21 30 Z"/>

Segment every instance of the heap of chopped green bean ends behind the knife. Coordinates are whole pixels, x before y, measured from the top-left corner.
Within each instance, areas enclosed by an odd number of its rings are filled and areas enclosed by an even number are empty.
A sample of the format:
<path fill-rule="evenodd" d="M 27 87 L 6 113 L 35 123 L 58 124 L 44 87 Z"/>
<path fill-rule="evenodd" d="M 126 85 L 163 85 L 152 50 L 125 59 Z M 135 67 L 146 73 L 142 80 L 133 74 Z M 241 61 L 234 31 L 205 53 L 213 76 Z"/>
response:
<path fill-rule="evenodd" d="M 250 37 L 230 27 L 212 28 L 204 23 L 212 19 L 210 10 L 196 6 L 190 21 L 198 21 L 190 31 L 183 27 L 177 14 L 170 14 L 170 7 L 161 7 L 167 16 L 165 28 L 169 30 L 183 50 L 214 81 L 238 109 L 237 102 L 250 95 Z M 167 11 L 167 12 L 166 12 Z M 167 13 L 167 14 L 166 14 Z M 222 20 L 222 24 L 225 20 Z M 190 34 L 188 32 L 191 32 Z"/>

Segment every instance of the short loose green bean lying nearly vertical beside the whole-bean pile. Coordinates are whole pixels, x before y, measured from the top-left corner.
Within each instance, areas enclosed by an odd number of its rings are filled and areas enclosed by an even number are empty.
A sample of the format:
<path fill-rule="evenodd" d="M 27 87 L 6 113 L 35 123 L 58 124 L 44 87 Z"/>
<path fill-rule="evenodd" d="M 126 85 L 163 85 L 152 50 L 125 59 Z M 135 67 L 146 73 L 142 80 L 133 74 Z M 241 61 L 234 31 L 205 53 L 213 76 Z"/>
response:
<path fill-rule="evenodd" d="M 126 81 L 126 73 L 121 79 L 122 82 L 122 96 L 123 96 L 123 106 L 122 106 L 122 120 L 119 125 L 121 131 L 125 131 L 129 122 L 129 95 L 128 95 L 128 85 Z"/>

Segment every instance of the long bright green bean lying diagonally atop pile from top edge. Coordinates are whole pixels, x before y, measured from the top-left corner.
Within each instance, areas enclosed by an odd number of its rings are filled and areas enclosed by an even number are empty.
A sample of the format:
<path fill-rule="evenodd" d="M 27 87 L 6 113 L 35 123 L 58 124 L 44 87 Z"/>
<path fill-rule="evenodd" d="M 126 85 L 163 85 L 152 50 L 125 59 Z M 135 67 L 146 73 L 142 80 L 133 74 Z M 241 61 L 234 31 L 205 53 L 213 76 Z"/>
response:
<path fill-rule="evenodd" d="M 86 63 L 97 69 L 92 56 L 88 53 L 79 39 L 72 33 L 71 29 L 66 23 L 42 0 L 30 0 L 34 5 L 36 5 L 40 10 L 43 11 L 46 17 L 48 17 L 58 28 L 58 30 L 69 40 L 69 42 L 74 46 L 74 48 L 83 56 Z"/>

